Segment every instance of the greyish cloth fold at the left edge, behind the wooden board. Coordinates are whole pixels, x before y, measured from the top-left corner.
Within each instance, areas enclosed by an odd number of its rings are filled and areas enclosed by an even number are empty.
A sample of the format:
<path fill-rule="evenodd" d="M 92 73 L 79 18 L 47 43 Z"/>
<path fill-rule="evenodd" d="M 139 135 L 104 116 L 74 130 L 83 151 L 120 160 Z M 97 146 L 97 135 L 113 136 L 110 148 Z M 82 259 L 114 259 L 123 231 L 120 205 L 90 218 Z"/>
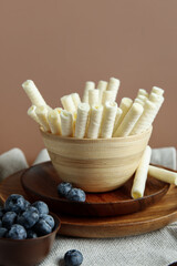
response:
<path fill-rule="evenodd" d="M 0 155 L 0 182 L 7 176 L 28 167 L 29 165 L 27 163 L 24 153 L 20 149 L 14 147 L 1 154 Z"/>

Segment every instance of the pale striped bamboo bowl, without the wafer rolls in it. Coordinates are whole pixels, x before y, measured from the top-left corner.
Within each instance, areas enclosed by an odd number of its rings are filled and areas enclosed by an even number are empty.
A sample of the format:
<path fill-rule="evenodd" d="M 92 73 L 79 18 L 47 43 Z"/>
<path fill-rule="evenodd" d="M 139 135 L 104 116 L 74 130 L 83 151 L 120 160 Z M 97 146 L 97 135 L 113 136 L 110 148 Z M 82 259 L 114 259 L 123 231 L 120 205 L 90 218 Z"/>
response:
<path fill-rule="evenodd" d="M 126 137 L 74 139 L 41 131 L 52 164 L 63 182 L 85 192 L 108 192 L 136 171 L 152 129 Z"/>

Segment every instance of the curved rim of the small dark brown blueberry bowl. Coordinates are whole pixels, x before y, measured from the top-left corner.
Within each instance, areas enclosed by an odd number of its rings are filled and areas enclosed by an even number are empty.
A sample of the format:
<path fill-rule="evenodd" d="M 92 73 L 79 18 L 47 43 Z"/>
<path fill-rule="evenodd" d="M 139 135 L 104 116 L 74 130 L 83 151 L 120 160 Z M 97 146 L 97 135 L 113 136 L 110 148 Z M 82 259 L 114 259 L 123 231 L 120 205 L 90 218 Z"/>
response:
<path fill-rule="evenodd" d="M 17 243 L 17 242 L 20 242 L 20 243 L 24 243 L 24 242 L 32 242 L 32 241 L 41 241 L 41 239 L 44 239 L 44 238 L 48 238 L 50 237 L 51 235 L 56 235 L 56 233 L 60 231 L 61 228 L 61 219 L 59 218 L 59 216 L 52 212 L 49 213 L 49 215 L 51 215 L 53 218 L 54 218 L 54 222 L 56 223 L 54 225 L 54 229 L 48 234 L 48 235 L 44 235 L 44 236 L 38 236 L 37 238 L 25 238 L 25 239 L 12 239 L 12 238 L 6 238 L 6 237 L 0 237 L 0 241 L 6 241 L 6 242 L 13 242 L 13 243 Z"/>

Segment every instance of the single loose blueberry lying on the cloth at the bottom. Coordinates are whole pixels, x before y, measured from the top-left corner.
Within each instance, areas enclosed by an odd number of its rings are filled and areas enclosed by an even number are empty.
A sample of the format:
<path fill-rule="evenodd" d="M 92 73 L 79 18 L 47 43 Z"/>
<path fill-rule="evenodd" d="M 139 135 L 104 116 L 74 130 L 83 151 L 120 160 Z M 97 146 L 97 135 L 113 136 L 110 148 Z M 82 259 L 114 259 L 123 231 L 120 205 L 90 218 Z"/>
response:
<path fill-rule="evenodd" d="M 76 249 L 71 249 L 64 255 L 65 266 L 80 266 L 83 262 L 83 255 Z"/>

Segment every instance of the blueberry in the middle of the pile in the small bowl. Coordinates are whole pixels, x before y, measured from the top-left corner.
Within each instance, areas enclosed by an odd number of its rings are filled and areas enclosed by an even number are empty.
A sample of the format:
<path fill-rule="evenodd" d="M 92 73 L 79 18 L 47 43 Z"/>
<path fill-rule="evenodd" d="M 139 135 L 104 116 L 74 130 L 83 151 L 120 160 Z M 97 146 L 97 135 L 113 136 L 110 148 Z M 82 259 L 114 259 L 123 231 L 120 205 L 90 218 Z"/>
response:
<path fill-rule="evenodd" d="M 29 229 L 39 221 L 39 211 L 35 207 L 30 206 L 18 216 L 17 223 Z"/>

